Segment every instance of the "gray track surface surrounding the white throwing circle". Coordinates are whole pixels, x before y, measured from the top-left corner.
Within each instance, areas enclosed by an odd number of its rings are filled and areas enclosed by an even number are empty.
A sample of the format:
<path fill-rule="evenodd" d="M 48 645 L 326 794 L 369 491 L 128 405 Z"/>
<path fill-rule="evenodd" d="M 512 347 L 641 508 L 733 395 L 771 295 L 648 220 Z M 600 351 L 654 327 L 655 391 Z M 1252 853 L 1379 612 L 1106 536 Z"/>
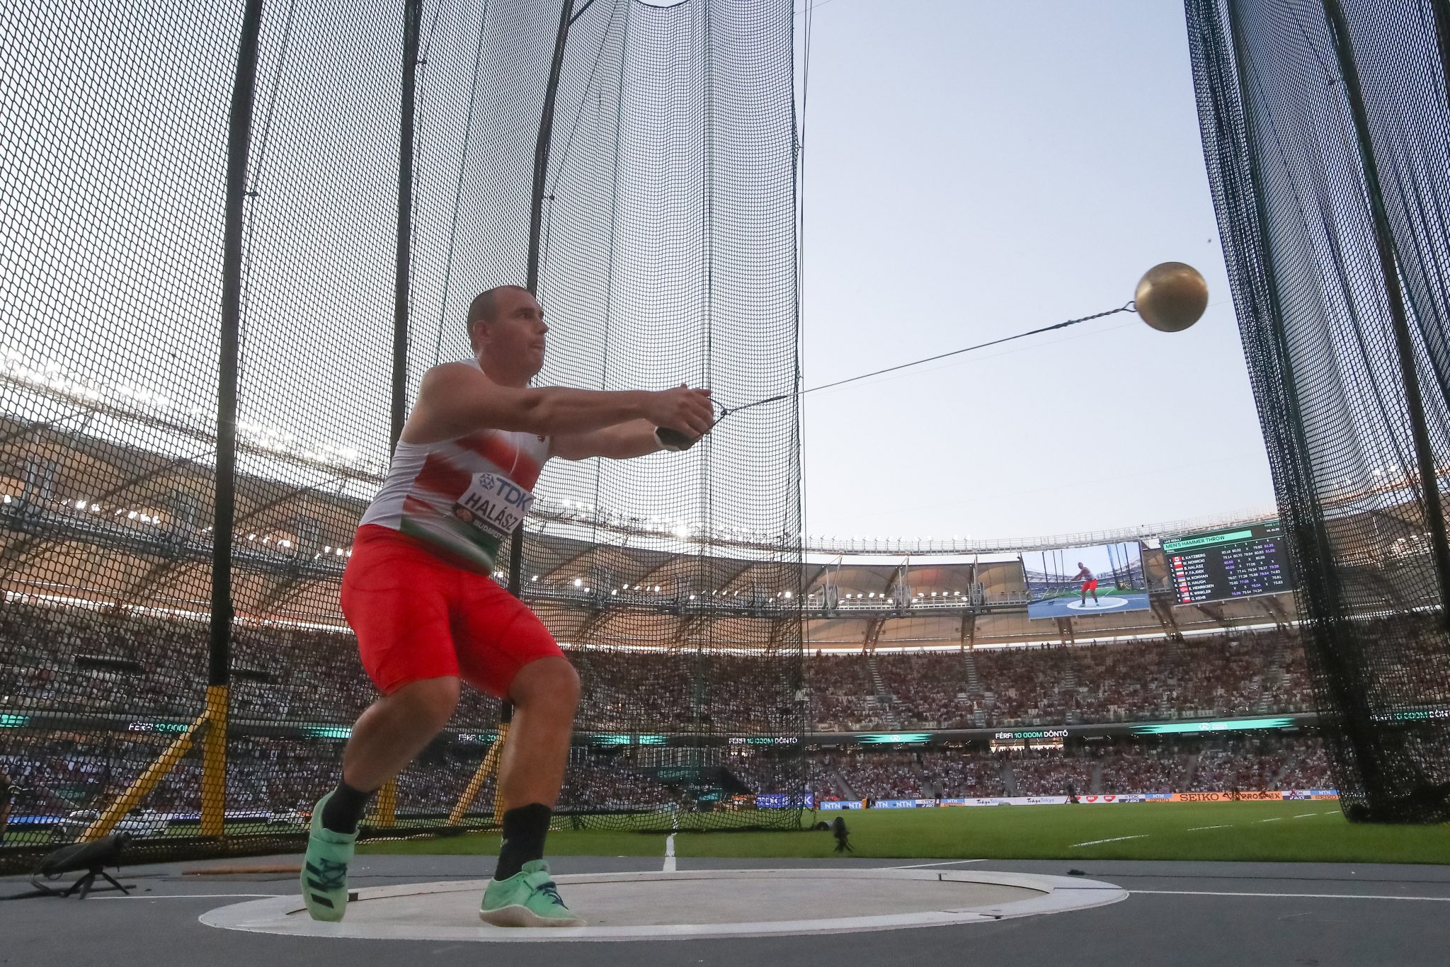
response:
<path fill-rule="evenodd" d="M 297 863 L 299 857 L 232 861 L 236 866 Z M 555 873 L 658 870 L 661 860 L 639 857 L 560 857 Z M 842 860 L 847 867 L 908 866 L 925 860 Z M 1006 870 L 1063 876 L 1080 868 L 1095 880 L 1132 890 L 1231 893 L 1134 893 L 1114 906 L 1032 916 L 999 924 L 916 928 L 838 937 L 690 939 L 618 944 L 573 942 L 497 945 L 435 941 L 348 941 L 242 934 L 204 926 L 203 912 L 245 896 L 199 895 L 294 893 L 283 874 L 197 877 L 181 870 L 216 861 L 132 867 L 120 877 L 135 883 L 138 899 L 96 895 L 84 902 L 32 899 L 0 903 L 0 964 L 41 967 L 302 967 L 341 963 L 383 967 L 405 963 L 476 967 L 508 957 L 510 967 L 664 967 L 705 964 L 738 967 L 842 967 L 851 964 L 1183 964 L 1224 967 L 1412 967 L 1450 963 L 1450 868 L 1433 866 L 1350 866 L 1288 863 L 1125 863 L 999 861 L 947 868 Z M 824 860 L 697 860 L 679 868 L 824 867 Z M 402 884 L 487 877 L 483 857 L 364 855 L 354 866 L 354 886 Z M 0 879 L 0 895 L 29 889 L 22 877 Z M 1333 899 L 1273 895 L 1333 895 Z M 1369 896 L 1441 897 L 1438 900 L 1354 899 Z M 829 910 L 813 915 L 828 916 Z M 567 950 L 561 950 L 567 947 Z"/>

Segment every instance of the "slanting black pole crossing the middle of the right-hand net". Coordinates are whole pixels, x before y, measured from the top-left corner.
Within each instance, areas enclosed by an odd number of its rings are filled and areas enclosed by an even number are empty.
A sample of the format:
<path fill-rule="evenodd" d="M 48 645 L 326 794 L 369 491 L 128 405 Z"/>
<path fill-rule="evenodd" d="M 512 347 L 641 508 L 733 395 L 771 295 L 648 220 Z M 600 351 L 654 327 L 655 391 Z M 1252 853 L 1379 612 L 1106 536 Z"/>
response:
<path fill-rule="evenodd" d="M 1340 0 L 1324 0 L 1324 13 L 1334 41 L 1334 55 L 1338 59 L 1344 97 L 1354 120 L 1354 142 L 1359 148 L 1360 167 L 1364 177 L 1364 194 L 1369 197 L 1370 217 L 1375 226 L 1375 249 L 1379 255 L 1379 271 L 1385 281 L 1385 300 L 1389 304 L 1391 329 L 1395 332 L 1395 352 L 1399 362 L 1399 378 L 1405 391 L 1405 409 L 1409 416 L 1409 436 L 1415 445 L 1415 470 L 1420 476 L 1421 496 L 1425 502 L 1425 523 L 1430 526 L 1430 555 L 1436 564 L 1440 584 L 1440 625 L 1450 626 L 1450 542 L 1446 541 L 1444 506 L 1440 503 L 1440 480 L 1436 473 L 1434 451 L 1430 447 L 1430 426 L 1425 420 L 1424 399 L 1420 393 L 1420 375 L 1415 371 L 1415 345 L 1409 335 L 1409 318 L 1405 312 L 1404 293 L 1399 289 L 1399 268 L 1395 252 L 1395 236 L 1385 212 L 1385 196 L 1380 190 L 1379 165 L 1375 161 L 1375 144 L 1369 133 L 1369 113 L 1364 109 L 1364 91 L 1360 88 L 1359 64 L 1350 38 L 1348 22 Z"/>

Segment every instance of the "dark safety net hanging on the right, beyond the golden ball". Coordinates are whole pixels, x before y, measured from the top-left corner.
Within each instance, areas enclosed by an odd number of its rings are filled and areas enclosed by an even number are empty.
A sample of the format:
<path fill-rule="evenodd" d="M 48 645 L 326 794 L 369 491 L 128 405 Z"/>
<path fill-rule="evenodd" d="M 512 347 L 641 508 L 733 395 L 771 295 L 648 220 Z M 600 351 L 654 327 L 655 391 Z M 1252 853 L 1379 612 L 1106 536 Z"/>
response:
<path fill-rule="evenodd" d="M 1335 784 L 1450 818 L 1450 7 L 1189 0 L 1209 183 Z"/>

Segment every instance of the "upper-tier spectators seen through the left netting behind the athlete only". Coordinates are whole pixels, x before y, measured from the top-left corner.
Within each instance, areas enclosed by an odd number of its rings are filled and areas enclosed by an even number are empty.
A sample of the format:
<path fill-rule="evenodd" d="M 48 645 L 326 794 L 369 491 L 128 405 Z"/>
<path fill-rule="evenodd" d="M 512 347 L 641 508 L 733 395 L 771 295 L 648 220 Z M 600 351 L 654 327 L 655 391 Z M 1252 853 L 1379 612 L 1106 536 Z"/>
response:
<path fill-rule="evenodd" d="M 207 625 L 190 616 L 57 607 L 0 607 L 0 707 L 190 719 L 206 694 Z M 712 721 L 738 731 L 789 731 L 808 690 L 780 658 L 570 649 L 589 731 L 660 732 Z M 238 626 L 231 715 L 238 719 L 351 723 L 377 690 L 351 634 Z M 497 725 L 497 700 L 465 689 L 461 728 Z"/>

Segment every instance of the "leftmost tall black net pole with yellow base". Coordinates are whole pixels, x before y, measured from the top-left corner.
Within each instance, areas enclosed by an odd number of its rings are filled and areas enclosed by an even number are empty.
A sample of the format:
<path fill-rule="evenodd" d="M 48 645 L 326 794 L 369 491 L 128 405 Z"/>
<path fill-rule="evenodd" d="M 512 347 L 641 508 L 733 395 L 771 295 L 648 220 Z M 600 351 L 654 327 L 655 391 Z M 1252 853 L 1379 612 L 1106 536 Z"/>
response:
<path fill-rule="evenodd" d="M 236 516 L 236 383 L 242 328 L 246 164 L 257 96 L 262 0 L 246 0 L 226 135 L 226 228 L 222 241 L 222 329 L 216 367 L 216 506 L 212 531 L 212 626 L 202 757 L 202 835 L 225 832 L 226 707 L 232 665 L 232 526 Z"/>

